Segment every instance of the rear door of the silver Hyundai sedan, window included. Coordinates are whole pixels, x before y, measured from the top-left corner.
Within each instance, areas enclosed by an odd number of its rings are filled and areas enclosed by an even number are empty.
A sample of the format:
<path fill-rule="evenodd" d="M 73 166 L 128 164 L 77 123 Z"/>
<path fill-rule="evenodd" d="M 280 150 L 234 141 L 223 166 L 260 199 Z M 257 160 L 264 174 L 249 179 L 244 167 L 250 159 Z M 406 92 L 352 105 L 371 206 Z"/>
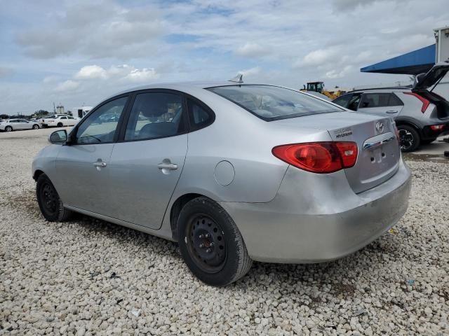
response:
<path fill-rule="evenodd" d="M 135 94 L 109 165 L 114 218 L 160 228 L 187 154 L 185 110 L 178 92 Z"/>

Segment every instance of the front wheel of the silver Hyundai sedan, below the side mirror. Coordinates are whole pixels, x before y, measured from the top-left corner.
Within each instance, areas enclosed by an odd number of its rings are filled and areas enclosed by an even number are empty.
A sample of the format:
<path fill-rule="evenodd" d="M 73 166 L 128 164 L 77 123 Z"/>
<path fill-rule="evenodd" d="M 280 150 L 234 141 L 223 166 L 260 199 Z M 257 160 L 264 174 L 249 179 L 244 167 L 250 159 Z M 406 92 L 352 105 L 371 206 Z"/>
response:
<path fill-rule="evenodd" d="M 58 192 L 46 174 L 37 179 L 36 197 L 43 217 L 49 222 L 67 221 L 72 211 L 65 209 Z"/>

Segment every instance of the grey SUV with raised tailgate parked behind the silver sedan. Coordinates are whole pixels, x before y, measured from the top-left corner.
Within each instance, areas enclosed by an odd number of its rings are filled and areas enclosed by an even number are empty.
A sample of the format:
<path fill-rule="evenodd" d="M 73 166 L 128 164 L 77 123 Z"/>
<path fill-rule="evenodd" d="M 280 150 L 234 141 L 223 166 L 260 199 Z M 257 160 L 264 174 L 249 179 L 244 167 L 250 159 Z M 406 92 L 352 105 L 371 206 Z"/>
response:
<path fill-rule="evenodd" d="M 352 111 L 391 116 L 396 121 L 401 150 L 415 151 L 449 130 L 449 102 L 428 90 L 449 71 L 448 63 L 438 63 L 418 75 L 413 87 L 382 87 L 354 90 L 333 102 Z"/>

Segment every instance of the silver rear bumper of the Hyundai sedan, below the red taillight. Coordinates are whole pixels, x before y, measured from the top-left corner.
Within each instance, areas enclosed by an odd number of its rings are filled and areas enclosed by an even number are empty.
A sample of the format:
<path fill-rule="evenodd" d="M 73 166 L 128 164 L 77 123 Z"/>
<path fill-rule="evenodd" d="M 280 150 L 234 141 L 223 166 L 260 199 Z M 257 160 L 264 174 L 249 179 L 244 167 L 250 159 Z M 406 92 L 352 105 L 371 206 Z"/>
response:
<path fill-rule="evenodd" d="M 411 179 L 403 162 L 391 179 L 359 194 L 342 185 L 316 193 L 310 189 L 314 181 L 304 181 L 295 191 L 297 176 L 291 169 L 271 202 L 220 202 L 253 260 L 306 263 L 341 258 L 382 235 L 407 210 Z M 300 193 L 309 193 L 308 203 Z"/>

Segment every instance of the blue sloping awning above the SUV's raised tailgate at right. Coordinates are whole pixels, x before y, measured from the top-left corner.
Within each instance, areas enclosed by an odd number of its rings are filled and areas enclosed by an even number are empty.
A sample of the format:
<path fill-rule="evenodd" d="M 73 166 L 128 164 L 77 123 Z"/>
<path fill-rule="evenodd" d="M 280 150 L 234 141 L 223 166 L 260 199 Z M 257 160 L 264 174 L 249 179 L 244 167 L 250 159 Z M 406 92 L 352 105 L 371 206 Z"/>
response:
<path fill-rule="evenodd" d="M 402 73 L 417 75 L 427 72 L 435 64 L 436 47 L 434 44 L 407 52 L 404 55 L 387 59 L 373 65 L 361 68 L 361 72 Z"/>

